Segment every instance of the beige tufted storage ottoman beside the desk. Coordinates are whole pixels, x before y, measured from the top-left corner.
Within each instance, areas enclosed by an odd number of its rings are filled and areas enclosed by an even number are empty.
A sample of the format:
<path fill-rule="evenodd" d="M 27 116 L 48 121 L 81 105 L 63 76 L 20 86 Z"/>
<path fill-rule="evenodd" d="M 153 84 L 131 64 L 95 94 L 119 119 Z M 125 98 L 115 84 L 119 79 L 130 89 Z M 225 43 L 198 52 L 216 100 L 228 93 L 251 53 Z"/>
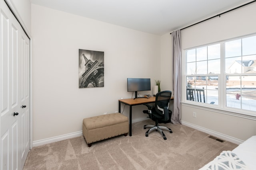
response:
<path fill-rule="evenodd" d="M 128 117 L 121 113 L 112 113 L 83 120 L 83 135 L 88 144 L 124 134 L 129 131 Z"/>

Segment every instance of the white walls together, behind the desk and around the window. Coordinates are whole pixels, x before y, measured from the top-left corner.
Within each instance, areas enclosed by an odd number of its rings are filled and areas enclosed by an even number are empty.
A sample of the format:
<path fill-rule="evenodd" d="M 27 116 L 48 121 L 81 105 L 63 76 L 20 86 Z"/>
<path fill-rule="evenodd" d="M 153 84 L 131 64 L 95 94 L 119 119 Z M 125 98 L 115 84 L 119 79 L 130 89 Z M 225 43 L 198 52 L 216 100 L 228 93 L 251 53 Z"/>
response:
<path fill-rule="evenodd" d="M 182 48 L 255 33 L 255 7 L 182 30 Z M 152 85 L 159 79 L 161 90 L 173 89 L 170 33 L 159 37 L 32 4 L 32 37 L 33 141 L 81 131 L 83 118 L 117 111 L 118 99 L 131 98 L 128 77 L 149 77 Z M 104 88 L 78 88 L 78 49 L 104 51 Z M 145 117 L 143 108 L 133 107 L 133 119 Z M 254 120 L 189 105 L 182 105 L 182 122 L 235 142 L 256 134 Z"/>

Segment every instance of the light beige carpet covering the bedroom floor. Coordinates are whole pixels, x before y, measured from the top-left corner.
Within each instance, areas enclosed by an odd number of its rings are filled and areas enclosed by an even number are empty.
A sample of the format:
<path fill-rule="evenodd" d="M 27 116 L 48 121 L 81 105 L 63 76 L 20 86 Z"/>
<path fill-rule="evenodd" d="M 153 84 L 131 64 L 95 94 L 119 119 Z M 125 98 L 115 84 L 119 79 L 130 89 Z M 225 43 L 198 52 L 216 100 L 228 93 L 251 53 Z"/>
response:
<path fill-rule="evenodd" d="M 221 143 L 208 134 L 184 125 L 163 124 L 173 133 L 152 131 L 145 137 L 143 125 L 151 120 L 133 123 L 132 137 L 118 136 L 92 143 L 76 137 L 34 147 L 24 170 L 198 170 L 223 150 L 236 144 Z"/>

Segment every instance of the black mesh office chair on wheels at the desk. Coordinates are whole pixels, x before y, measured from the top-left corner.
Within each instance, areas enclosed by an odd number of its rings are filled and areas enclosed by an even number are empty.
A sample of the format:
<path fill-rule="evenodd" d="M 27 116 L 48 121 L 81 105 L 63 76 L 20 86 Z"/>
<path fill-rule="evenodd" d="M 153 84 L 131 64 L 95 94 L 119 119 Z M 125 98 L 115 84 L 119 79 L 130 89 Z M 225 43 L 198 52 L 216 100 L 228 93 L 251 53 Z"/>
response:
<path fill-rule="evenodd" d="M 145 106 L 148 107 L 148 110 L 144 110 L 143 113 L 148 114 L 149 118 L 156 122 L 155 125 L 144 125 L 144 129 L 146 129 L 147 127 L 151 127 L 146 132 L 146 137 L 148 137 L 148 133 L 150 133 L 153 130 L 156 130 L 159 133 L 161 133 L 162 136 L 164 137 L 164 140 L 166 140 L 166 137 L 162 129 L 166 129 L 170 133 L 172 133 L 172 130 L 170 128 L 159 126 L 158 124 L 158 123 L 166 123 L 170 120 L 169 114 L 171 113 L 171 111 L 168 108 L 169 108 L 171 96 L 172 96 L 171 91 L 168 91 L 168 90 L 162 91 L 156 94 L 155 107 L 150 106 L 149 104 L 144 104 Z"/>

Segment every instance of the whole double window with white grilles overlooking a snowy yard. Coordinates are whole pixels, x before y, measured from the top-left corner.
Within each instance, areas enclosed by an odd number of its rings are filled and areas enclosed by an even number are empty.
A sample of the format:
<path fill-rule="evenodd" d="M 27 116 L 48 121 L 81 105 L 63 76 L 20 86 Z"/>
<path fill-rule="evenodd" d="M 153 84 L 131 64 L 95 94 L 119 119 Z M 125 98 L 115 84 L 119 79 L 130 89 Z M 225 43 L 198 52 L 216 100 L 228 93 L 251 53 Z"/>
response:
<path fill-rule="evenodd" d="M 186 50 L 186 100 L 256 111 L 256 35 Z"/>

